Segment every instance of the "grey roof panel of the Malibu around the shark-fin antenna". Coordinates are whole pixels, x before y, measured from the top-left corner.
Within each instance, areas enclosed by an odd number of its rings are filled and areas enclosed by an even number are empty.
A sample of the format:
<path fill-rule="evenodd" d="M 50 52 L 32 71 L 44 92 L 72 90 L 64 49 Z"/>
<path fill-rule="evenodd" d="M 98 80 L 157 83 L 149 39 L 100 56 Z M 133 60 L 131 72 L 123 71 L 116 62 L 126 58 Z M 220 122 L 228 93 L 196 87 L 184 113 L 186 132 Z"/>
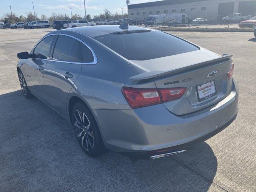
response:
<path fill-rule="evenodd" d="M 151 30 L 148 28 L 144 27 L 137 27 L 137 26 L 129 26 L 128 31 L 133 31 L 133 30 Z M 90 37 L 96 37 L 96 36 L 101 36 L 101 35 L 106 35 L 114 32 L 122 32 L 121 28 L 119 28 L 119 25 L 108 25 L 108 26 L 103 26 L 103 25 L 98 25 L 98 26 L 85 26 L 85 27 L 74 27 L 74 28 L 68 28 L 62 30 L 64 31 L 74 31 L 78 33 L 85 34 Z"/>

